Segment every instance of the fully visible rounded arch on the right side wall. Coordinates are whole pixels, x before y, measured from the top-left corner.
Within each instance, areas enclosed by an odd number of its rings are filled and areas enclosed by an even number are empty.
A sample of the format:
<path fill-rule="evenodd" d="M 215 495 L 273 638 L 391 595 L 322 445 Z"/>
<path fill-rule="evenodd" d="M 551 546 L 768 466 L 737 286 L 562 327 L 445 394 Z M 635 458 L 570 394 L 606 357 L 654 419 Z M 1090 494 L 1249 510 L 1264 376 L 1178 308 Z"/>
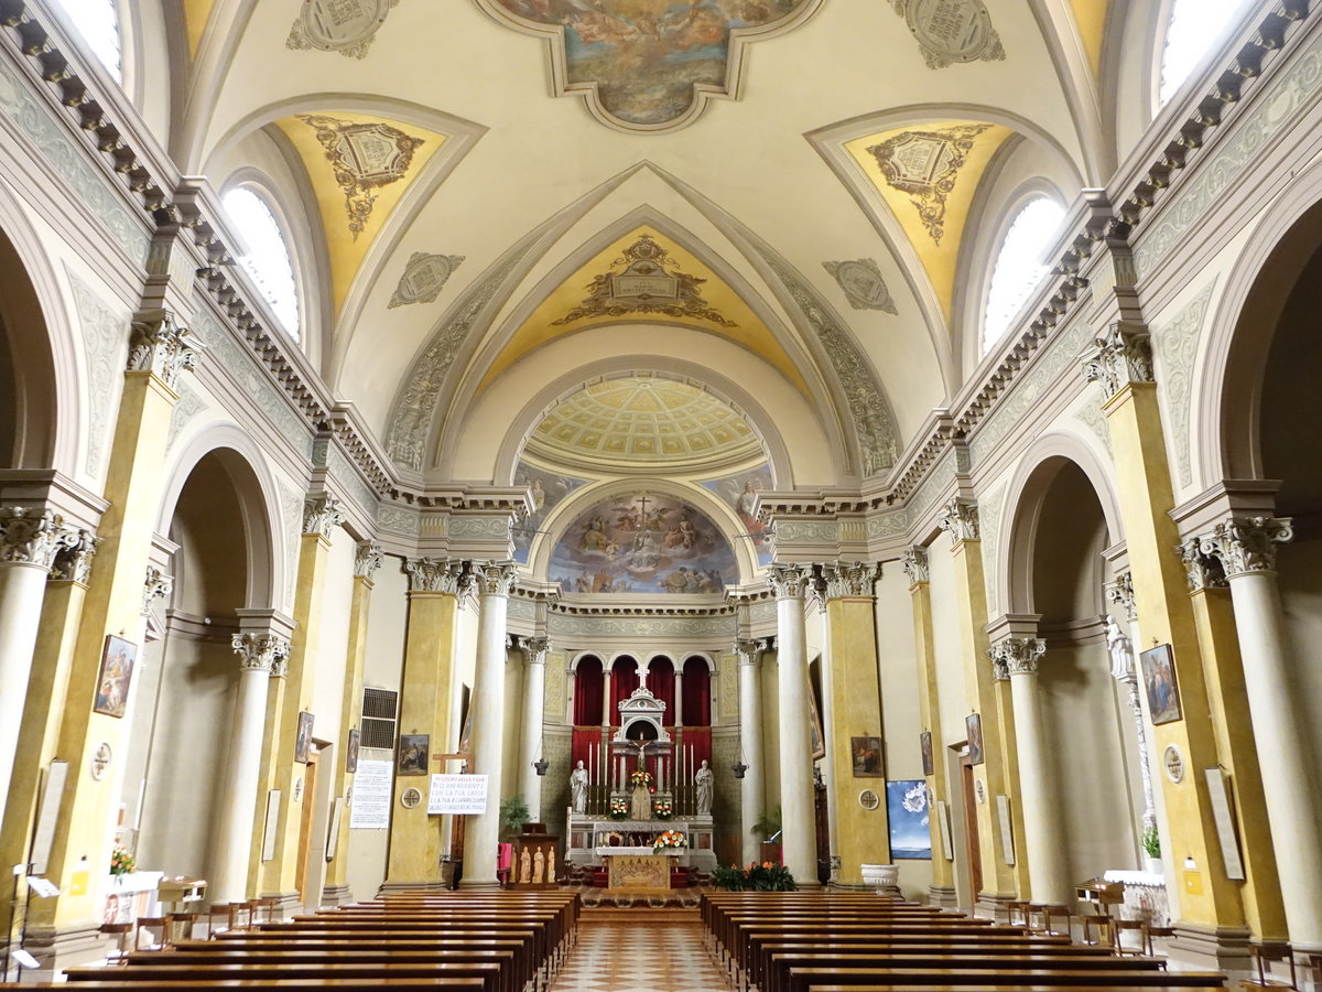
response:
<path fill-rule="evenodd" d="M 1101 507 L 1107 544 L 1114 545 L 1124 538 L 1114 484 L 1096 452 L 1072 434 L 1054 433 L 1039 438 L 1019 459 L 1006 492 L 1002 520 L 1009 522 L 998 528 L 998 546 L 994 549 L 997 589 L 1003 590 L 999 612 L 1035 612 L 1032 557 L 1038 524 L 1052 485 L 1067 466 L 1080 471 L 1092 487 Z M 984 521 L 986 525 L 988 521 Z M 995 608 L 993 604 L 993 611 Z"/>

